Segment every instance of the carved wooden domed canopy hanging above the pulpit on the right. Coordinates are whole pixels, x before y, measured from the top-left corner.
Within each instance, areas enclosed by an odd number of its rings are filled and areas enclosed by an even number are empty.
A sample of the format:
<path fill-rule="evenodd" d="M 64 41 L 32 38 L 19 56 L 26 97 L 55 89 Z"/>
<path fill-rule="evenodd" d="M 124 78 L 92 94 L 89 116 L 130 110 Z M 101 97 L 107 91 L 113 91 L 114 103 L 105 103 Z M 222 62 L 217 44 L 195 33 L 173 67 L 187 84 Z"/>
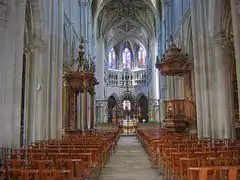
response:
<path fill-rule="evenodd" d="M 188 55 L 178 48 L 170 36 L 171 45 L 166 50 L 166 54 L 159 60 L 157 56 L 156 68 L 163 76 L 181 76 L 189 71 Z"/>

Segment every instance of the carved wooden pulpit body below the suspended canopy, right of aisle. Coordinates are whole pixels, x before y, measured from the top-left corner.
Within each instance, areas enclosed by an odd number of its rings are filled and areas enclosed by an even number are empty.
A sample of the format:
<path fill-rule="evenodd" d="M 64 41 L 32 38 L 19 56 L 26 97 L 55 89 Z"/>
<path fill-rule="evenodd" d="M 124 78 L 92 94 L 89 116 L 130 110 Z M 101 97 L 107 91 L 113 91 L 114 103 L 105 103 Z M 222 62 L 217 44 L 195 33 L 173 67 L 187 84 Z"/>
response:
<path fill-rule="evenodd" d="M 183 132 L 188 124 L 196 123 L 196 107 L 188 100 L 168 100 L 165 105 L 165 127 Z"/>

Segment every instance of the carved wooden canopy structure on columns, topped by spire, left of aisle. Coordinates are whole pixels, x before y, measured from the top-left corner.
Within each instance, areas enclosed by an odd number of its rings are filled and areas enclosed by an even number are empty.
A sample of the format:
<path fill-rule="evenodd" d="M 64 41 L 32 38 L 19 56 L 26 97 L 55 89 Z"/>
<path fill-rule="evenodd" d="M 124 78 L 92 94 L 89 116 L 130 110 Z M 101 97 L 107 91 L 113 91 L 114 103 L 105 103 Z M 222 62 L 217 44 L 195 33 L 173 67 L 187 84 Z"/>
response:
<path fill-rule="evenodd" d="M 94 128 L 94 94 L 95 85 L 98 84 L 95 74 L 95 64 L 92 59 L 84 58 L 83 39 L 79 46 L 80 52 L 77 60 L 70 65 L 64 64 L 64 129 L 65 131 L 76 130 L 77 125 L 77 96 L 83 93 L 83 100 L 80 102 L 83 107 L 83 129 L 88 128 L 88 94 L 91 97 L 90 104 L 90 129 Z"/>

